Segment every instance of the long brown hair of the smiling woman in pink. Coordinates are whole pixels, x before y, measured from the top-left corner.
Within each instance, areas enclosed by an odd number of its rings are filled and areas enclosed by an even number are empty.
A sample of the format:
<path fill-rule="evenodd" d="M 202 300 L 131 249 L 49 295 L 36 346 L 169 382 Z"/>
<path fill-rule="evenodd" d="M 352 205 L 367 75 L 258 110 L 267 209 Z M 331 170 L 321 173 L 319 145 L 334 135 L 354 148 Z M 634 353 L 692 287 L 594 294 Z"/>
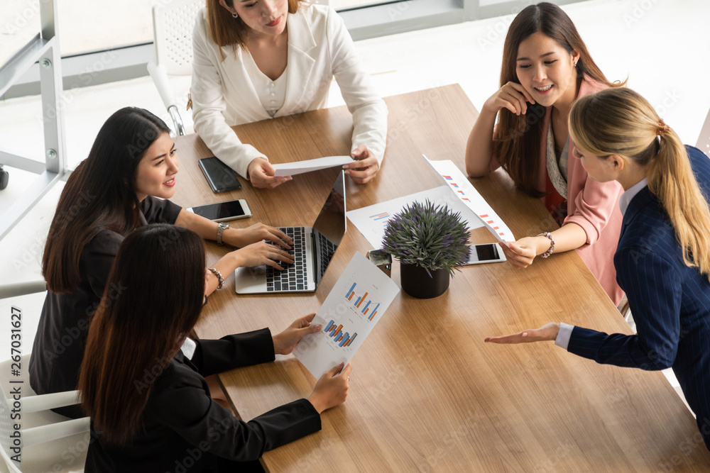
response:
<path fill-rule="evenodd" d="M 610 87 L 615 86 L 606 79 L 591 59 L 584 41 L 581 40 L 577 28 L 574 27 L 567 13 L 557 5 L 542 2 L 526 6 L 518 16 L 515 16 L 513 23 L 510 23 L 506 42 L 503 45 L 501 87 L 508 82 L 520 84 L 515 62 L 518 57 L 518 47 L 533 33 L 549 36 L 569 54 L 579 52 L 577 84 L 586 74 L 596 82 L 602 82 Z M 498 162 L 508 171 L 519 189 L 534 197 L 544 195 L 535 188 L 540 173 L 538 153 L 544 131 L 542 130 L 544 117 L 545 108 L 539 104 L 528 104 L 527 113 L 520 116 L 503 108 L 498 112 L 498 126 L 493 135 L 493 152 L 496 153 Z"/>

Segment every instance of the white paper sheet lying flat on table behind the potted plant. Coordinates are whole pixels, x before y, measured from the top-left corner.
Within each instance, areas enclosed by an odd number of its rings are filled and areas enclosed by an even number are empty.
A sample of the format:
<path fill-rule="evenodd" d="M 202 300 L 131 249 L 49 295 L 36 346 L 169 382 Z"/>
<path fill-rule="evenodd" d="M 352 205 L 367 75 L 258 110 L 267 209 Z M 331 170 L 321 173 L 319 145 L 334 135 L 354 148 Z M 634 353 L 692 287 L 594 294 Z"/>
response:
<path fill-rule="evenodd" d="M 449 191 L 448 186 L 435 187 L 416 194 L 398 197 L 398 199 L 392 199 L 391 201 L 351 210 L 346 212 L 346 216 L 360 230 L 360 233 L 367 238 L 370 245 L 379 250 L 382 247 L 382 240 L 385 237 L 385 228 L 389 219 L 395 213 L 402 211 L 405 206 L 414 202 L 424 204 L 427 199 L 437 205 L 446 204 L 452 211 L 461 213 L 461 218 L 466 221 L 469 230 L 484 226 L 483 222 L 479 218 L 472 216 L 469 208 Z"/>

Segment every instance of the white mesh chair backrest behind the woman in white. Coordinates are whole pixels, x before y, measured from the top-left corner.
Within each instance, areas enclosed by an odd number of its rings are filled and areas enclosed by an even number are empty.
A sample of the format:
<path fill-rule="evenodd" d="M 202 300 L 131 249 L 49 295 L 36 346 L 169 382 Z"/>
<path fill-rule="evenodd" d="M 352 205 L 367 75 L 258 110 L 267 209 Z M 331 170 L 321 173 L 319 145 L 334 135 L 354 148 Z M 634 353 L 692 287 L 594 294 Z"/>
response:
<path fill-rule="evenodd" d="M 204 0 L 153 5 L 155 60 L 170 75 L 192 74 L 192 28 Z"/>

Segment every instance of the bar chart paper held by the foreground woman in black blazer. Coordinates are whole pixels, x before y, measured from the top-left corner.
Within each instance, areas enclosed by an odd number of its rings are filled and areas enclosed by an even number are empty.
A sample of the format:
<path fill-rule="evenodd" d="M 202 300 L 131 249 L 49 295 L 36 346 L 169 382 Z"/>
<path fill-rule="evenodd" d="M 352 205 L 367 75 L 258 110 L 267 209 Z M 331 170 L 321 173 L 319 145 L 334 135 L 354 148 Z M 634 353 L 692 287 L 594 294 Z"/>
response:
<path fill-rule="evenodd" d="M 295 356 L 316 378 L 347 364 L 398 292 L 392 279 L 356 252 L 311 322 L 322 330 L 305 335 Z"/>

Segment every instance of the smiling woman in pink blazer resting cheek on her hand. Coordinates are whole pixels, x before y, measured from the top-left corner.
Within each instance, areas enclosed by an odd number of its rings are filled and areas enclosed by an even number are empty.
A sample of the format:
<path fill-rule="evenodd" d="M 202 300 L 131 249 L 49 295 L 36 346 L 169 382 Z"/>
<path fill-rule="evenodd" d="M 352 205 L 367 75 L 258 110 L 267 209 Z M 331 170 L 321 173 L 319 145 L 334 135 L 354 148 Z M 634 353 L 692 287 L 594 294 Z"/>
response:
<path fill-rule="evenodd" d="M 615 304 L 623 298 L 612 261 L 621 187 L 594 182 L 572 158 L 567 116 L 579 97 L 618 85 L 597 67 L 559 6 L 527 6 L 508 29 L 501 89 L 486 100 L 466 145 L 470 176 L 502 166 L 518 189 L 539 197 L 550 211 L 552 218 L 539 230 L 561 226 L 501 245 L 508 262 L 527 267 L 536 256 L 577 249 Z"/>

